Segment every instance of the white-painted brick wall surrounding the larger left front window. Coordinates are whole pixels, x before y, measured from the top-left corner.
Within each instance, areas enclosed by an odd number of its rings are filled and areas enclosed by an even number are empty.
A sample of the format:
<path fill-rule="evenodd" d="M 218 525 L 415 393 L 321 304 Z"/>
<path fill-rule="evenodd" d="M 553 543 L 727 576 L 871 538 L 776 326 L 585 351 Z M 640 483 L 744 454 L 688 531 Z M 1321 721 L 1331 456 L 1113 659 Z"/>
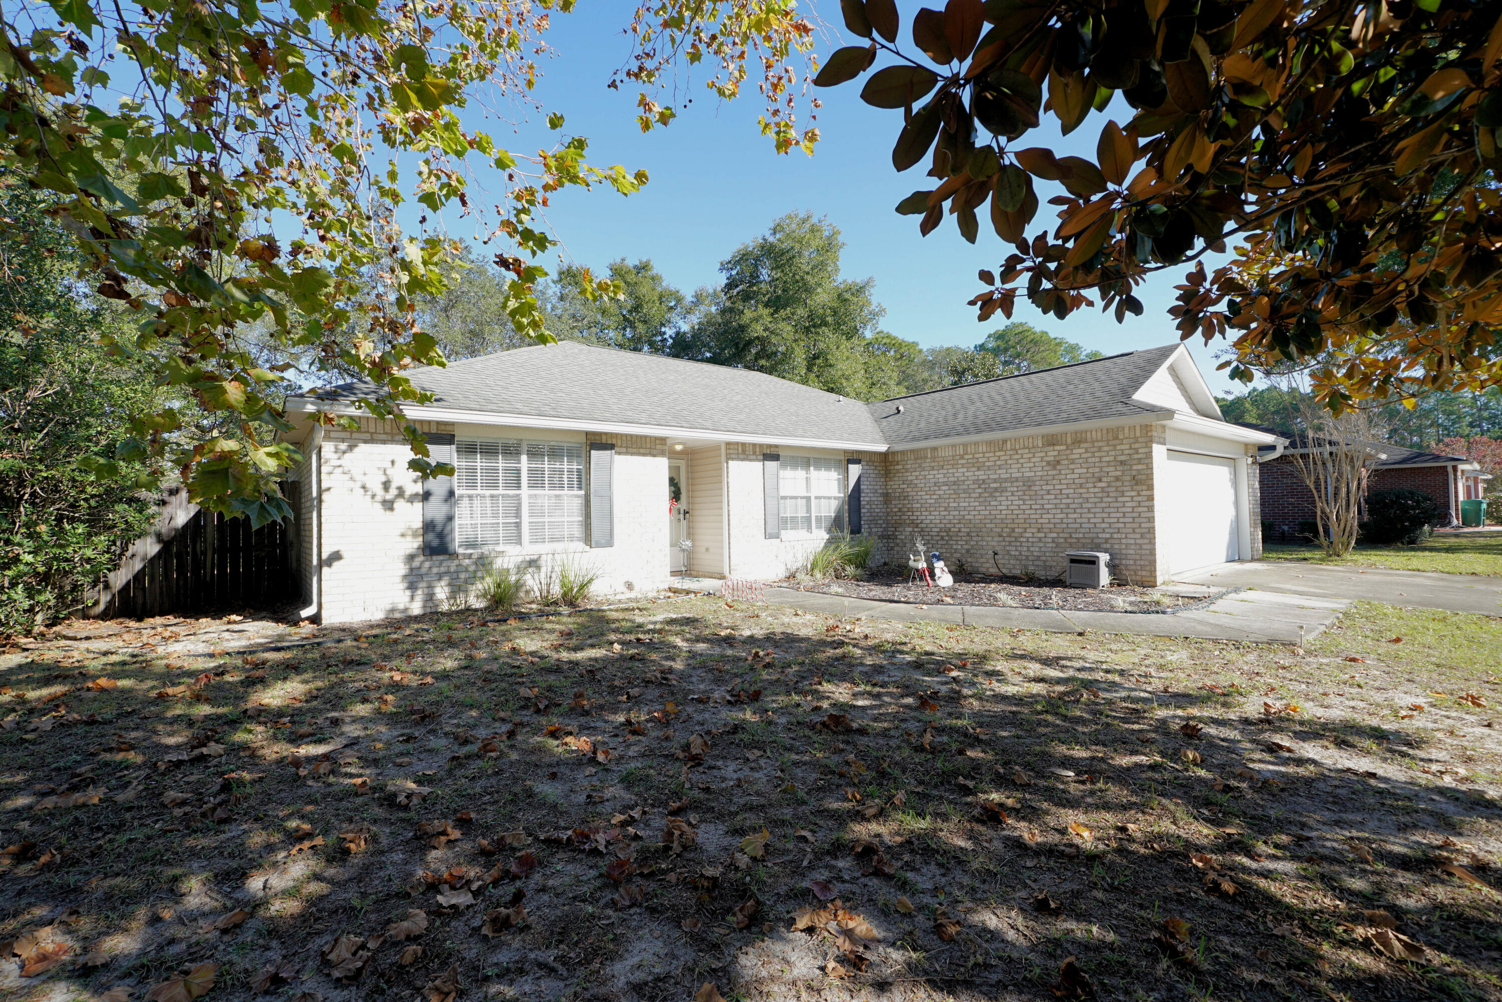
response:
<path fill-rule="evenodd" d="M 360 418 L 359 431 L 326 430 L 317 452 L 323 515 L 317 545 L 323 622 L 407 616 L 464 601 L 491 559 L 572 559 L 599 571 L 599 593 L 667 584 L 667 440 L 590 434 L 614 442 L 614 545 L 529 547 L 521 554 L 422 553 L 422 479 L 394 422 Z M 422 431 L 454 431 L 419 422 Z M 559 433 L 557 437 L 563 437 Z M 529 437 L 550 437 L 529 433 Z M 574 437 L 574 436 L 569 436 Z M 587 533 L 586 533 L 587 538 Z"/>

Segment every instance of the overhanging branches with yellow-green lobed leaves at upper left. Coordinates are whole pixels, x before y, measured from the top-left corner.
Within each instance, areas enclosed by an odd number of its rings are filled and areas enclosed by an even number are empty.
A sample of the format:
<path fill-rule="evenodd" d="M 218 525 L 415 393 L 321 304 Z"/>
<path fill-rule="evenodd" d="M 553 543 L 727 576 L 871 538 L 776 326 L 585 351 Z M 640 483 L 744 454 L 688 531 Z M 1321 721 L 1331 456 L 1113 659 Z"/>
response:
<path fill-rule="evenodd" d="M 443 362 L 415 317 L 455 276 L 461 243 L 445 221 L 472 216 L 466 227 L 505 275 L 497 299 L 511 326 L 548 340 L 533 288 L 535 258 L 557 242 L 539 221 L 548 200 L 646 182 L 592 165 L 586 140 L 533 96 L 550 18 L 571 8 L 8 2 L 0 171 L 41 192 L 78 245 L 80 278 L 126 306 L 126 332 L 105 335 L 117 359 L 234 431 L 203 434 L 171 406 L 135 410 L 128 440 L 92 469 L 108 478 L 144 464 L 158 482 L 179 476 L 206 508 L 255 524 L 288 515 L 276 481 L 300 457 L 276 442 L 290 425 L 272 388 L 296 365 L 267 364 L 281 346 L 312 359 L 314 379 L 372 380 L 379 394 L 362 406 L 401 421 L 412 467 L 449 472 L 403 419 L 404 404 L 424 400 L 407 370 Z M 799 128 L 793 104 L 813 26 L 792 0 L 643 0 L 620 18 L 634 50 L 611 84 L 640 89 L 643 129 L 673 119 L 664 83 L 703 83 L 722 99 L 754 84 L 777 149 L 811 149 L 817 132 Z M 523 116 L 545 120 L 556 141 L 506 150 L 479 128 Z M 472 183 L 481 174 L 485 200 Z M 413 201 L 422 215 L 404 228 L 398 215 Z M 608 279 L 586 281 L 614 293 Z"/>

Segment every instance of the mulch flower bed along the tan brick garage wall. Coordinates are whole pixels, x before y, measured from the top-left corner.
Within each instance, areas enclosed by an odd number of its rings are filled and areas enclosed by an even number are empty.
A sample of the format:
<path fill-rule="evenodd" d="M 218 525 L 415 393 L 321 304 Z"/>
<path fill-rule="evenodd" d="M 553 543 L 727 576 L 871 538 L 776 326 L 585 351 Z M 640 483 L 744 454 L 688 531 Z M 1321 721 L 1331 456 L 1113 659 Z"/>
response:
<path fill-rule="evenodd" d="M 924 587 L 909 583 L 906 568 L 877 568 L 861 581 L 790 581 L 790 587 L 879 602 L 919 602 L 955 605 L 1012 605 L 1017 608 L 1063 608 L 1078 611 L 1169 611 L 1199 602 L 1199 598 L 1164 595 L 1151 587 L 1111 586 L 1105 589 L 1063 587 L 1057 580 L 999 577 L 994 574 L 955 574 L 951 587 Z M 948 599 L 948 602 L 945 601 Z"/>

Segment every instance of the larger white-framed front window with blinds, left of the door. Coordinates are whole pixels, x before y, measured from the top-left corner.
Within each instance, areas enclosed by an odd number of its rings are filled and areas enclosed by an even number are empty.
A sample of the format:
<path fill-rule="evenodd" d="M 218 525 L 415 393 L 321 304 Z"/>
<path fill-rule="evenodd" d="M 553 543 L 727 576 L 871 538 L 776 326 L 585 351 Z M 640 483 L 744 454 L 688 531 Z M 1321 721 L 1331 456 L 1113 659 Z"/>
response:
<path fill-rule="evenodd" d="M 454 467 L 461 551 L 583 542 L 583 445 L 460 439 Z"/>

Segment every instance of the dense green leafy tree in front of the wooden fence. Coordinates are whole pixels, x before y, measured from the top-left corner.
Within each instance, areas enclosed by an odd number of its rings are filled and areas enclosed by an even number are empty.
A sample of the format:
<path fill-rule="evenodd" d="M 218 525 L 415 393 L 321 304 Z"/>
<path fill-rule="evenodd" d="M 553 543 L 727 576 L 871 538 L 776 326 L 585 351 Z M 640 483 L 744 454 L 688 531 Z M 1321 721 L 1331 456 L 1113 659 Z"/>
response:
<path fill-rule="evenodd" d="M 129 320 L 74 281 L 84 261 L 45 206 L 0 180 L 0 635 L 81 604 L 116 544 L 150 521 L 137 488 L 161 470 L 129 443 L 171 439 L 194 418 L 147 370 L 96 343 L 128 335 Z M 131 419 L 143 413 L 159 418 Z M 78 466 L 116 446 L 125 455 L 108 478 Z"/>

